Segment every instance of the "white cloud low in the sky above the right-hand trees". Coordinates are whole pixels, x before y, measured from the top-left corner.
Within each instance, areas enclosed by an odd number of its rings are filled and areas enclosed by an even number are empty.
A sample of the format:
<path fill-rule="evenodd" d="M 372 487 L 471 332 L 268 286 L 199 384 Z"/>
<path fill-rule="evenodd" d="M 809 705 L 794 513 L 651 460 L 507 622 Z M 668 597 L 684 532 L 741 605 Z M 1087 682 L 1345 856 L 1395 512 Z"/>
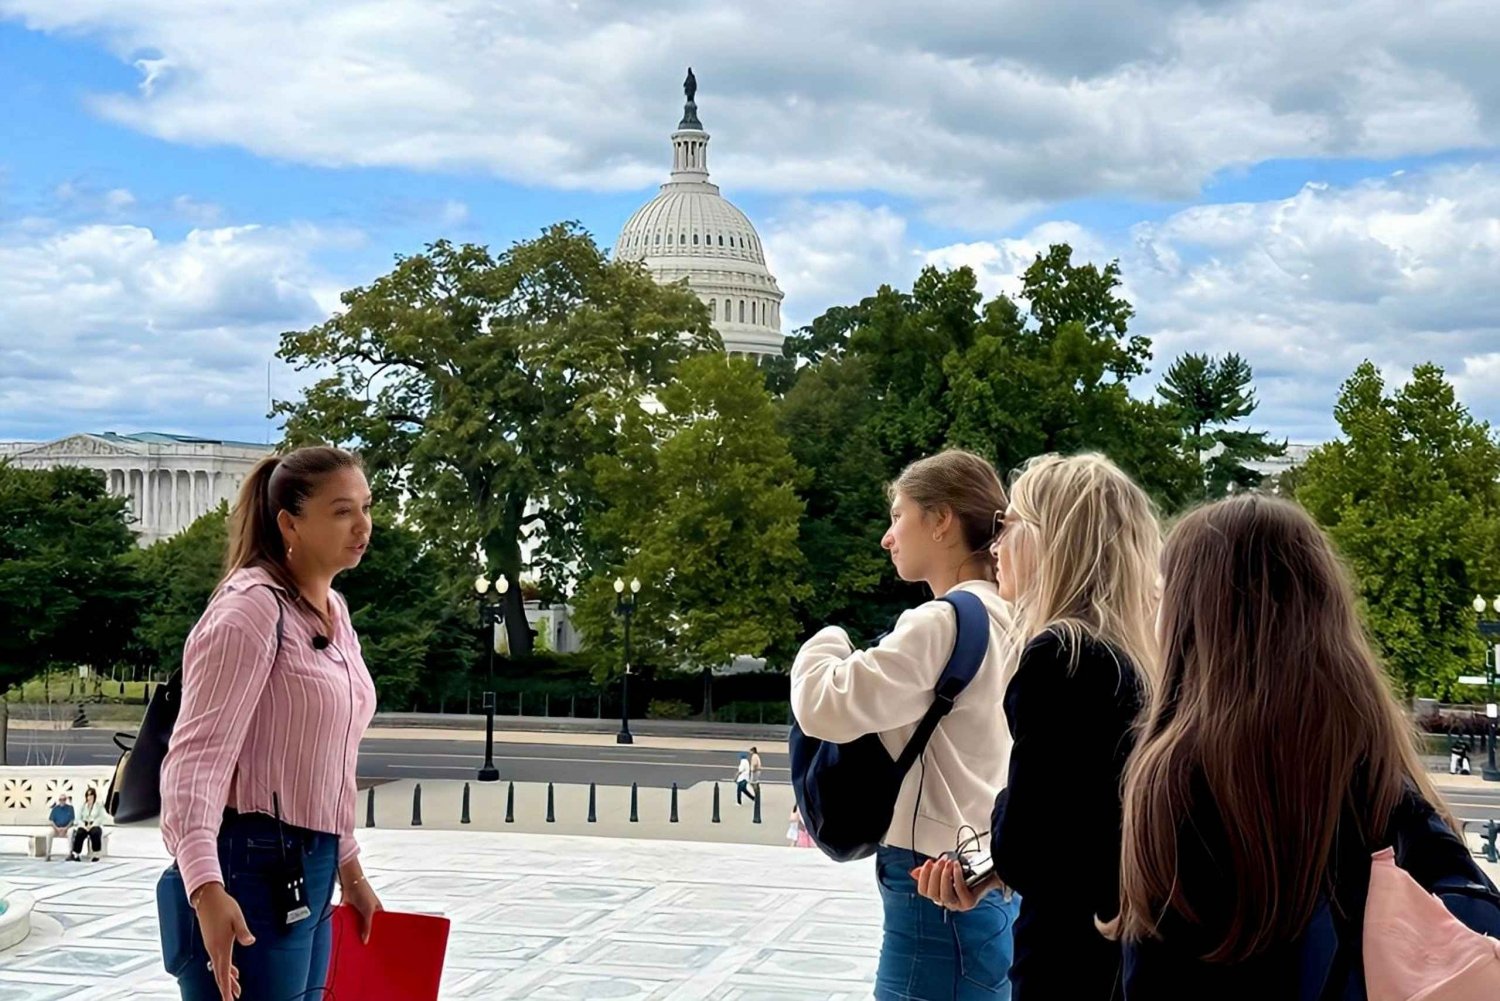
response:
<path fill-rule="evenodd" d="M 1154 339 L 1158 374 L 1182 351 L 1245 356 L 1258 420 L 1278 434 L 1334 434 L 1338 386 L 1365 359 L 1392 380 L 1436 362 L 1476 416 L 1500 422 L 1500 168 L 1202 206 L 1138 225 L 1120 246 L 1046 224 L 926 260 L 970 264 L 987 290 L 1014 291 L 1035 251 L 1059 239 L 1080 251 L 1076 260 L 1120 258 L 1134 329 Z"/>

